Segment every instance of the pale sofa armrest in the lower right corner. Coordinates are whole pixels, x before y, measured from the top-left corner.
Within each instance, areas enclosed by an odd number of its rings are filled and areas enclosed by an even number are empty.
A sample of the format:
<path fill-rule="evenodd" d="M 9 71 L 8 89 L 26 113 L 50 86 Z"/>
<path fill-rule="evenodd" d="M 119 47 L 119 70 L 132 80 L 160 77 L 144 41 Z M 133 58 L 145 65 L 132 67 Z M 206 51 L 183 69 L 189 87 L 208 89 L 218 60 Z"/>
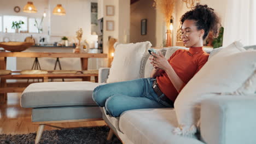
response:
<path fill-rule="evenodd" d="M 202 101 L 201 140 L 208 144 L 256 143 L 256 94 Z"/>

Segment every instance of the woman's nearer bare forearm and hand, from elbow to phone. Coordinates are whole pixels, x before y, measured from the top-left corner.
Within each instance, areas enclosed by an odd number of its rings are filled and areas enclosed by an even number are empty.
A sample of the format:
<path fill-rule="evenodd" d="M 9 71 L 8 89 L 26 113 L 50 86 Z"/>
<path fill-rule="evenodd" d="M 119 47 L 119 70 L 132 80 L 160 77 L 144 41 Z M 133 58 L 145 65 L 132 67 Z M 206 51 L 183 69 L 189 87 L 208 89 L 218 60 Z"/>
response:
<path fill-rule="evenodd" d="M 185 83 L 179 78 L 170 63 L 168 63 L 167 59 L 161 53 L 159 53 L 159 55 L 154 53 L 153 55 L 155 56 L 155 58 L 152 58 L 154 68 L 164 70 L 168 78 L 171 80 L 173 86 L 179 92 Z"/>

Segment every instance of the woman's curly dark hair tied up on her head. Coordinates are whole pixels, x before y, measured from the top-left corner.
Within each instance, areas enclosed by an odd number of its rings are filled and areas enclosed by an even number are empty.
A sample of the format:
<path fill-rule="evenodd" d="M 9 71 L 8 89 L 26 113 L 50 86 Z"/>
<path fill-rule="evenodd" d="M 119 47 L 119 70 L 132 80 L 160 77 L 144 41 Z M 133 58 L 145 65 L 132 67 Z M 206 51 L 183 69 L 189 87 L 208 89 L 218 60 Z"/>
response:
<path fill-rule="evenodd" d="M 214 9 L 209 8 L 206 4 L 201 5 L 197 3 L 192 10 L 187 11 L 187 13 L 181 17 L 181 23 L 183 24 L 185 20 L 195 20 L 197 29 L 205 30 L 203 39 L 207 37 L 210 31 L 212 31 L 214 38 L 218 37 L 220 18 L 214 13 Z"/>

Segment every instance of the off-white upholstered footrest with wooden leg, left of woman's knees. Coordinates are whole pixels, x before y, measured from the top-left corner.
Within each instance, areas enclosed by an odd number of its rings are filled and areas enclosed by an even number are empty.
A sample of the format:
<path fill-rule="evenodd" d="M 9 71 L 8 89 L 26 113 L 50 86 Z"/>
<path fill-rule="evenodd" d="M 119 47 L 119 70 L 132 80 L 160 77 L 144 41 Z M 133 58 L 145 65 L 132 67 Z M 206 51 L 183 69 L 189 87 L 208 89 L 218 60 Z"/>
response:
<path fill-rule="evenodd" d="M 21 95 L 21 107 L 32 107 L 32 122 L 39 124 L 36 142 L 50 123 L 102 120 L 94 100 L 94 88 L 105 83 L 41 82 L 32 83 Z"/>

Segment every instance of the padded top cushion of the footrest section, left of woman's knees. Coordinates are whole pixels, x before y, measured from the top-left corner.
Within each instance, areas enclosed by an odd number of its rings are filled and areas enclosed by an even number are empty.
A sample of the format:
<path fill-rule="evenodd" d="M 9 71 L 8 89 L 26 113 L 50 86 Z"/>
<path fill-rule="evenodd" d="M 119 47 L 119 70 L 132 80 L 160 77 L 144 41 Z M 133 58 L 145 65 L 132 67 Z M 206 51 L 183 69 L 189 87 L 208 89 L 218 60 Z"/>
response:
<path fill-rule="evenodd" d="M 103 84 L 85 81 L 32 83 L 21 95 L 21 106 L 96 106 L 92 92 Z"/>

